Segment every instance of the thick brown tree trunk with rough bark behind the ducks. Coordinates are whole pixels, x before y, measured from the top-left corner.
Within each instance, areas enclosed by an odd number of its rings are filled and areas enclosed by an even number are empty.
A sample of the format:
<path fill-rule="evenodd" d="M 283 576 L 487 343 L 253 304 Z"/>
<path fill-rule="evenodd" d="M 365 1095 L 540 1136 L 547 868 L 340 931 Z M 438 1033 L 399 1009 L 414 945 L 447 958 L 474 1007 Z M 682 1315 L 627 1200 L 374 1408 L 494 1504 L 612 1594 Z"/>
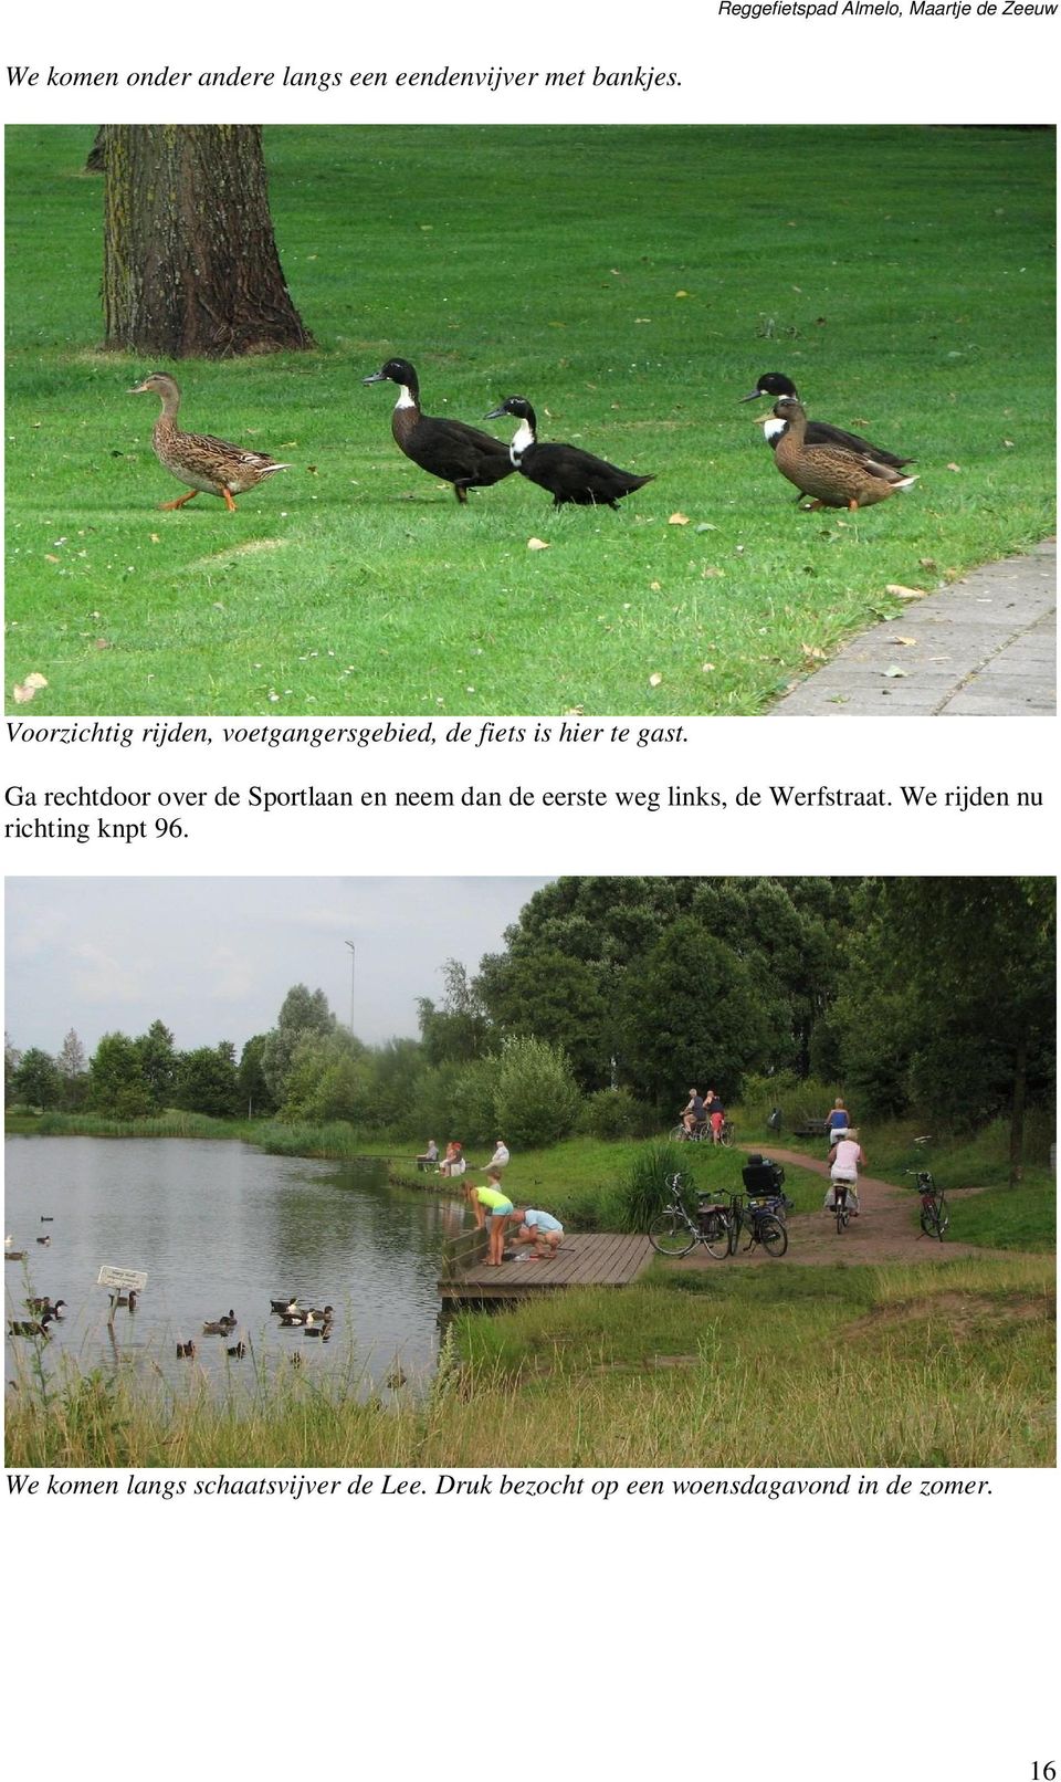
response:
<path fill-rule="evenodd" d="M 306 349 L 256 125 L 105 125 L 107 347 L 158 358 Z"/>

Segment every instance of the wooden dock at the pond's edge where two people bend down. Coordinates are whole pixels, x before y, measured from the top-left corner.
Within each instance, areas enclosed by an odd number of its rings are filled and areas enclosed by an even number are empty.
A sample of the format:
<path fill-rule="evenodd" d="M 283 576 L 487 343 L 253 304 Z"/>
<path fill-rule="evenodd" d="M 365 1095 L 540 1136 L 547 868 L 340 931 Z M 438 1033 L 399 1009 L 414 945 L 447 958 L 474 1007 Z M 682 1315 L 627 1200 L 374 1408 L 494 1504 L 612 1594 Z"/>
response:
<path fill-rule="evenodd" d="M 559 1287 L 627 1287 L 653 1255 L 646 1237 L 621 1231 L 573 1231 L 564 1235 L 555 1256 L 486 1265 L 486 1231 L 465 1231 L 445 1246 L 438 1292 L 449 1303 L 481 1299 L 525 1299 Z"/>

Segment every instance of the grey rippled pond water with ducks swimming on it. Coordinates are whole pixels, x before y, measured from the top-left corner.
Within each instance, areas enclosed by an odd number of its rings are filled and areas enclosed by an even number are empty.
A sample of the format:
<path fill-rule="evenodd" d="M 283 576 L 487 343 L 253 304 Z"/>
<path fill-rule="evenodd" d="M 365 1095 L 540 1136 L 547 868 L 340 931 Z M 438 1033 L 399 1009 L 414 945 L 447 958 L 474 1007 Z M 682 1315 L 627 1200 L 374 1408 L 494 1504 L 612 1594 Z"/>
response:
<path fill-rule="evenodd" d="M 7 1336 L 7 1379 L 37 1347 L 48 1369 L 62 1356 L 128 1363 L 155 1381 L 194 1369 L 240 1390 L 292 1354 L 349 1374 L 361 1395 L 383 1388 L 395 1361 L 411 1385 L 431 1376 L 441 1244 L 466 1222 L 461 1199 L 395 1189 L 376 1160 L 267 1157 L 215 1139 L 9 1137 L 5 1171 L 4 1230 L 28 1253 L 4 1265 L 5 1317 L 28 1317 L 28 1296 L 68 1303 L 50 1342 Z M 114 1336 L 109 1294 L 94 1285 L 103 1263 L 148 1274 L 135 1312 L 116 1312 Z M 271 1317 L 269 1301 L 290 1294 L 335 1306 L 328 1344 Z M 230 1308 L 239 1331 L 205 1336 L 203 1322 Z M 189 1336 L 196 1358 L 178 1361 Z M 226 1354 L 239 1338 L 253 1351 L 244 1361 Z"/>

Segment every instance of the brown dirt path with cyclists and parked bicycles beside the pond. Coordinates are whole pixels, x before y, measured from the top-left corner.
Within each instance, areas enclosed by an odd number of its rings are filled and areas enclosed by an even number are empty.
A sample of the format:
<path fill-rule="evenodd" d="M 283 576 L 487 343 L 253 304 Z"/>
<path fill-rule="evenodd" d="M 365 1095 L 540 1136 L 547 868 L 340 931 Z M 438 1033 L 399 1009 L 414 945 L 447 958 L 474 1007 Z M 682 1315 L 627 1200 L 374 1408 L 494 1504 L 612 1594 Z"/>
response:
<path fill-rule="evenodd" d="M 741 1149 L 751 1148 L 741 1146 Z M 757 1146 L 755 1149 L 760 1148 Z M 821 1176 L 824 1199 L 824 1183 L 830 1180 L 830 1165 L 826 1162 L 806 1157 L 803 1151 L 778 1149 L 774 1144 L 769 1146 L 769 1157 L 774 1164 L 794 1164 Z M 977 1190 L 970 1189 L 968 1192 L 976 1194 Z M 960 1205 L 963 1198 L 965 1192 L 952 1194 L 952 1190 L 947 1190 L 947 1201 L 952 1205 Z M 952 1244 L 949 1237 L 942 1244 L 935 1237 L 924 1237 L 913 1219 L 917 1210 L 913 1189 L 897 1189 L 892 1181 L 881 1181 L 879 1176 L 860 1178 L 858 1205 L 858 1219 L 851 1219 L 847 1230 L 842 1233 L 837 1233 L 835 1219 L 821 1208 L 812 1214 L 789 1214 L 789 1251 L 785 1260 L 799 1263 L 876 1263 L 952 1262 L 956 1256 L 1006 1258 L 1018 1255 L 1013 1249 L 983 1249 L 977 1244 Z M 730 1260 L 760 1263 L 771 1258 L 757 1246 L 753 1251 L 739 1251 Z M 717 1263 L 698 1244 L 692 1255 L 678 1262 L 676 1267 L 712 1269 Z"/>

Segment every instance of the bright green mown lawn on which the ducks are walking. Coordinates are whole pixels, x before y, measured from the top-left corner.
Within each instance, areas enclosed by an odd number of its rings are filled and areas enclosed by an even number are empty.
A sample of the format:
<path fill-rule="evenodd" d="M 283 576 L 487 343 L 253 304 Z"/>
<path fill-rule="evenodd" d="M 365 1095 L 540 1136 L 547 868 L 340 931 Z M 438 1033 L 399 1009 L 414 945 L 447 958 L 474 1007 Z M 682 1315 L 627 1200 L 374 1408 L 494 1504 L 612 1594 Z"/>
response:
<path fill-rule="evenodd" d="M 27 718 L 753 713 L 897 611 L 888 583 L 1052 529 L 1049 132 L 271 128 L 319 347 L 171 367 L 187 428 L 294 465 L 237 515 L 158 511 L 182 486 L 126 392 L 160 367 L 98 349 L 91 135 L 7 132 L 7 693 L 48 679 Z M 393 446 L 393 387 L 361 387 L 395 353 L 429 413 L 523 394 L 543 437 L 655 481 L 618 513 L 516 476 L 459 510 Z M 917 488 L 799 513 L 765 405 L 737 401 L 762 371 L 917 456 Z"/>

